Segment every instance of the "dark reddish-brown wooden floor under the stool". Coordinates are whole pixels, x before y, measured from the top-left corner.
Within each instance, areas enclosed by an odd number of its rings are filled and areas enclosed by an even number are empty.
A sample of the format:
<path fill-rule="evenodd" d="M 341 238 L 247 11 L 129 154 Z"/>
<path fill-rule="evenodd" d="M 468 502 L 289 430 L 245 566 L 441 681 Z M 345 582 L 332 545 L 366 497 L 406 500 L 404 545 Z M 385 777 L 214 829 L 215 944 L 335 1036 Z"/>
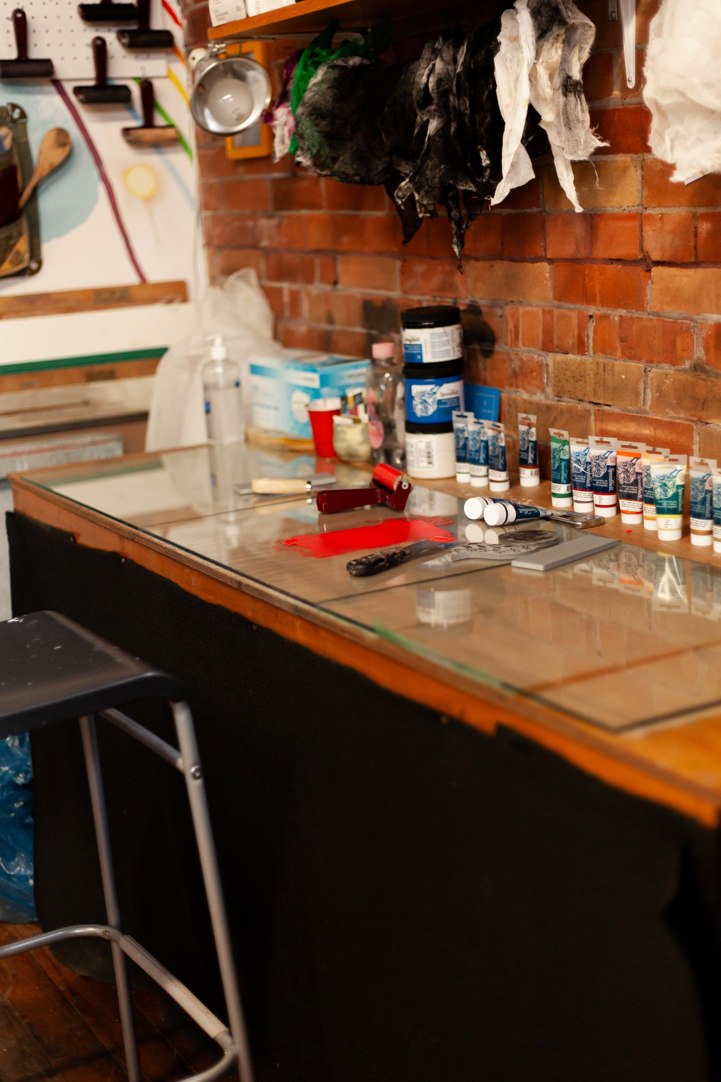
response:
<path fill-rule="evenodd" d="M 0 945 L 39 931 L 0 923 Z M 218 1059 L 217 1045 L 164 993 L 133 998 L 144 1082 L 187 1078 Z M 48 950 L 0 962 L 0 1082 L 125 1079 L 112 986 L 78 977 Z"/>

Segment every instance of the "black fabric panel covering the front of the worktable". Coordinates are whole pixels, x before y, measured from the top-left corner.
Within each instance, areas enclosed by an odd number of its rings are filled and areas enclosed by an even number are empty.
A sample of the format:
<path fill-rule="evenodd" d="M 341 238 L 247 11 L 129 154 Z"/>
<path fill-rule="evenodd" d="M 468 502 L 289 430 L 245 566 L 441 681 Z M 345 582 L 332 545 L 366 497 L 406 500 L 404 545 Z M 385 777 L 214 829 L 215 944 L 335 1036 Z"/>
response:
<path fill-rule="evenodd" d="M 259 1082 L 721 1078 L 712 831 L 8 526 L 16 613 L 57 609 L 195 689 Z M 109 728 L 128 929 L 217 1003 L 182 781 Z M 77 726 L 32 752 L 43 927 L 102 920 Z M 97 972 L 94 950 L 70 960 Z"/>

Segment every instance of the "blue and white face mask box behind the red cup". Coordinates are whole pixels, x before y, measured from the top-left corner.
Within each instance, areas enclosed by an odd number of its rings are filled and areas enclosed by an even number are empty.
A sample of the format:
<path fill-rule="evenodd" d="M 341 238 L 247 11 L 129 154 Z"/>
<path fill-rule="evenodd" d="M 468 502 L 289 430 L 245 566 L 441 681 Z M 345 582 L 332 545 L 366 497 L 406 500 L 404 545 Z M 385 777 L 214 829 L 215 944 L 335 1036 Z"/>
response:
<path fill-rule="evenodd" d="M 328 354 L 251 359 L 251 415 L 257 428 L 311 439 L 308 404 L 339 398 L 365 385 L 368 360 Z"/>

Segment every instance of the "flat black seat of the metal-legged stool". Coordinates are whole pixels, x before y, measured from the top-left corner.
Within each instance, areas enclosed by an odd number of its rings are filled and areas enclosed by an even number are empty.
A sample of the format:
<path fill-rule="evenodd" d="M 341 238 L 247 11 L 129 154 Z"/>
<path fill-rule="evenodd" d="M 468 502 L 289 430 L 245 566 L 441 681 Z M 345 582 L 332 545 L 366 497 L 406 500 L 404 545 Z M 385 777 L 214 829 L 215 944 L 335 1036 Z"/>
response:
<path fill-rule="evenodd" d="M 58 612 L 0 623 L 0 739 L 148 696 L 178 702 L 187 691 Z"/>

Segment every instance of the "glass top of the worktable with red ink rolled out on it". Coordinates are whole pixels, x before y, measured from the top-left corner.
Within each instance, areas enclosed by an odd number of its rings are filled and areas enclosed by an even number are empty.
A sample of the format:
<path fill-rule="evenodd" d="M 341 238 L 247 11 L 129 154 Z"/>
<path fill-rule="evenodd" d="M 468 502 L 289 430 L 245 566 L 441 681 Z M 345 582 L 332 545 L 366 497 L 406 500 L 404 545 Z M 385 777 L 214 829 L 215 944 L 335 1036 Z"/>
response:
<path fill-rule="evenodd" d="M 477 560 L 451 565 L 445 556 L 357 579 L 346 570 L 350 555 L 317 558 L 283 542 L 417 517 L 479 540 L 479 525 L 465 518 L 463 499 L 423 486 L 403 514 L 384 506 L 320 515 L 315 499 L 233 490 L 252 477 L 315 472 L 335 472 L 338 487 L 370 479 L 341 463 L 249 446 L 63 466 L 36 471 L 30 480 L 237 572 L 249 589 L 269 588 L 400 645 L 451 677 L 605 729 L 680 720 L 721 703 L 721 568 L 622 542 L 545 573 Z M 577 536 L 542 525 L 561 540 Z"/>

